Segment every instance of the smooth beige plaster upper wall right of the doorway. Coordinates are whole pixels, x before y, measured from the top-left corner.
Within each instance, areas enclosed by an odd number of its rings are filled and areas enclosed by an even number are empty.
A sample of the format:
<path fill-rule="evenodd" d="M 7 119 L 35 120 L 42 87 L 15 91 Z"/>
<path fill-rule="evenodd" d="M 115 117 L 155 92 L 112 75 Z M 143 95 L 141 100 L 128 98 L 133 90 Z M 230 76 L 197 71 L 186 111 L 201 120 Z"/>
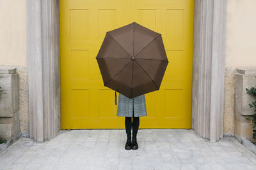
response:
<path fill-rule="evenodd" d="M 226 67 L 256 66 L 256 1 L 227 1 Z"/>

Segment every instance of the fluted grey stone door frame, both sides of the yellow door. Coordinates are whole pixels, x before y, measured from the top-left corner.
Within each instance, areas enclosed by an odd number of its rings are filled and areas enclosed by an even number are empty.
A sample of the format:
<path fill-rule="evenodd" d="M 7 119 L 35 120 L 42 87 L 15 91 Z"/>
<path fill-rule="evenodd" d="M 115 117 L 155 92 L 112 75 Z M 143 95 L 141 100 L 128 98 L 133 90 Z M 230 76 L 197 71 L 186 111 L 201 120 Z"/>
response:
<path fill-rule="evenodd" d="M 223 138 L 227 0 L 195 0 L 191 125 L 196 135 Z M 59 0 L 27 0 L 29 138 L 60 132 Z"/>

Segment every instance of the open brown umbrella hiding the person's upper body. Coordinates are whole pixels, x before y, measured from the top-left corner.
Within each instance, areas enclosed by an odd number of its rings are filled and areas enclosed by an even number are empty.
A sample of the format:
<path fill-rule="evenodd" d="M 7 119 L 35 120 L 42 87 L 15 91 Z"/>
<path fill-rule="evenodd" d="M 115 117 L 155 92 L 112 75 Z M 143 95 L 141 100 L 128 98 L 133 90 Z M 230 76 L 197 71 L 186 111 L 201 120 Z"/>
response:
<path fill-rule="evenodd" d="M 106 32 L 96 59 L 104 86 L 129 99 L 159 90 L 168 65 L 161 34 L 136 22 Z"/>

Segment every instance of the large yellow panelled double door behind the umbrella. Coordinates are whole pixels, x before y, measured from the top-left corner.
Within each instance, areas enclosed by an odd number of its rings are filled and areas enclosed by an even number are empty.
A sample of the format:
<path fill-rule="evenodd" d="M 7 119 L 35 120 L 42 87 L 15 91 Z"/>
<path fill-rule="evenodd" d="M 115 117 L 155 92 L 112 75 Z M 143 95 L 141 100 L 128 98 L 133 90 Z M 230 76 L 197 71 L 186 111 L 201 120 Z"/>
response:
<path fill-rule="evenodd" d="M 160 90 L 145 94 L 140 129 L 191 128 L 193 9 L 193 0 L 60 0 L 61 129 L 124 128 L 95 57 L 106 31 L 134 21 L 162 34 L 169 60 Z"/>

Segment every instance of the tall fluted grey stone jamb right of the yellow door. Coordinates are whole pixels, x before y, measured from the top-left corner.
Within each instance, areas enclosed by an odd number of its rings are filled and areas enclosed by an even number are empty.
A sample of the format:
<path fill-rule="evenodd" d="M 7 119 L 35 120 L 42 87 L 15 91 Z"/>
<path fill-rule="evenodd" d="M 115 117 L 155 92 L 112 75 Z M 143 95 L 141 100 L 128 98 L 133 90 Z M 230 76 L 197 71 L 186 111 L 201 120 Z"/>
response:
<path fill-rule="evenodd" d="M 195 0 L 192 129 L 210 141 L 223 137 L 226 0 Z"/>

